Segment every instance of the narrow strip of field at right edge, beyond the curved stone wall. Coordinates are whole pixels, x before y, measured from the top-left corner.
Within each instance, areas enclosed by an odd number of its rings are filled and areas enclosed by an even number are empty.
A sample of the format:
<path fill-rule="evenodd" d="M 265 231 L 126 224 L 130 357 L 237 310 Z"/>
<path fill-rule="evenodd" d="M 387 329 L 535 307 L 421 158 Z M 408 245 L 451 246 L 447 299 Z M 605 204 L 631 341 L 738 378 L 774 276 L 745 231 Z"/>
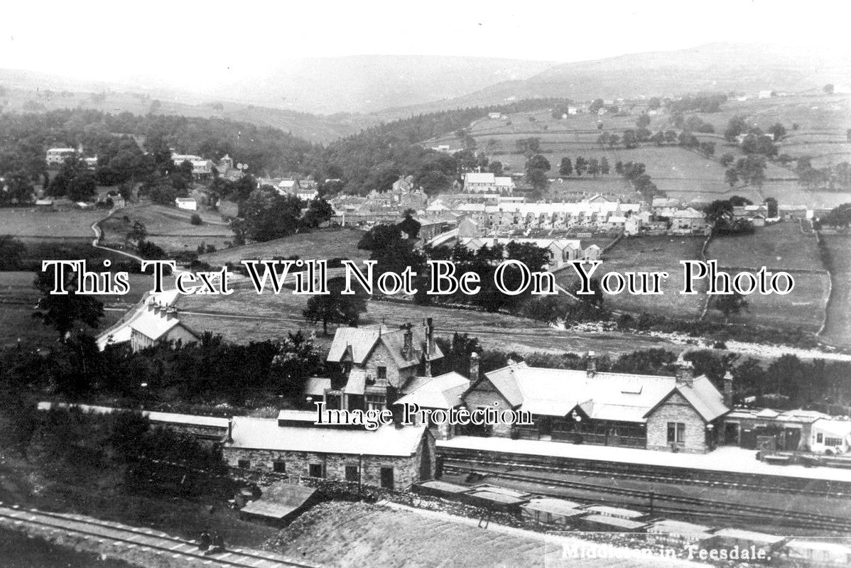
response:
<path fill-rule="evenodd" d="M 827 325 L 822 338 L 829 344 L 851 345 L 851 236 L 822 235 L 833 276 Z"/>

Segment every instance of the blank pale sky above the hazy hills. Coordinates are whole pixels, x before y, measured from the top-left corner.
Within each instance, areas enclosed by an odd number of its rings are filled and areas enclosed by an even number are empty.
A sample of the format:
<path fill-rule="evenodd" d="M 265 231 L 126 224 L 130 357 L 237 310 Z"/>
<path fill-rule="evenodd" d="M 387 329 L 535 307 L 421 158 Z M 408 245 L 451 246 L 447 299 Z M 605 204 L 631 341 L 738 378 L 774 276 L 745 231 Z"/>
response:
<path fill-rule="evenodd" d="M 14 2 L 0 68 L 205 88 L 288 59 L 439 54 L 559 62 L 780 43 L 851 53 L 847 0 Z"/>

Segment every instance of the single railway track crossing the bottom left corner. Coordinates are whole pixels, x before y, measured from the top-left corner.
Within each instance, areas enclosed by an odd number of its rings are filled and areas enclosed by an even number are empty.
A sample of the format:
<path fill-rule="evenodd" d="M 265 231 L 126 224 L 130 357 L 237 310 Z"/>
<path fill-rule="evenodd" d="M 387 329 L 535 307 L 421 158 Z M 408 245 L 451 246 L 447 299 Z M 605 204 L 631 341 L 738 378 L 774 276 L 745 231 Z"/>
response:
<path fill-rule="evenodd" d="M 216 554 L 204 554 L 195 541 L 173 537 L 161 531 L 97 520 L 81 514 L 63 514 L 36 509 L 9 507 L 0 503 L 0 527 L 30 526 L 40 532 L 60 532 L 118 548 L 163 554 L 178 559 L 187 566 L 205 565 L 228 568 L 317 568 L 271 553 L 240 548 L 226 549 Z"/>

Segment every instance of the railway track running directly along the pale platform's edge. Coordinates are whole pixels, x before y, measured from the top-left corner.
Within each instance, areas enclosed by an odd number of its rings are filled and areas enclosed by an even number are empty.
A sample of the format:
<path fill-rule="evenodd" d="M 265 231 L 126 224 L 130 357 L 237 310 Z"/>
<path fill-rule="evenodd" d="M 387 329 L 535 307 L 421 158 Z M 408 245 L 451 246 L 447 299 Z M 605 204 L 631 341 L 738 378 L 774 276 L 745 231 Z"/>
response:
<path fill-rule="evenodd" d="M 851 491 L 846 490 L 847 484 L 831 483 L 831 481 L 813 480 L 813 482 L 822 487 L 802 486 L 802 481 L 796 478 L 772 478 L 771 480 L 760 480 L 758 475 L 751 474 L 729 474 L 727 472 L 716 472 L 710 470 L 700 470 L 700 477 L 683 474 L 671 468 L 655 468 L 652 471 L 647 471 L 646 466 L 638 468 L 635 464 L 630 463 L 596 463 L 593 466 L 583 464 L 582 460 L 574 461 L 574 463 L 558 463 L 548 465 L 542 463 L 540 457 L 523 456 L 522 454 L 510 454 L 511 458 L 501 459 L 500 456 L 482 457 L 471 455 L 471 451 L 448 451 L 448 448 L 441 448 L 440 452 L 443 455 L 443 463 L 459 466 L 465 464 L 470 468 L 477 469 L 480 466 L 494 466 L 505 468 L 523 468 L 534 469 L 535 471 L 551 472 L 556 474 L 580 474 L 591 476 L 617 477 L 626 480 L 644 480 L 644 481 L 665 481 L 667 483 L 676 483 L 680 485 L 693 485 L 704 487 L 726 487 L 729 489 L 744 489 L 748 491 L 769 491 L 773 493 L 789 493 L 795 495 L 812 495 L 815 497 L 838 497 L 851 498 Z M 731 477 L 734 476 L 734 479 Z M 836 487 L 835 487 L 836 486 Z"/>

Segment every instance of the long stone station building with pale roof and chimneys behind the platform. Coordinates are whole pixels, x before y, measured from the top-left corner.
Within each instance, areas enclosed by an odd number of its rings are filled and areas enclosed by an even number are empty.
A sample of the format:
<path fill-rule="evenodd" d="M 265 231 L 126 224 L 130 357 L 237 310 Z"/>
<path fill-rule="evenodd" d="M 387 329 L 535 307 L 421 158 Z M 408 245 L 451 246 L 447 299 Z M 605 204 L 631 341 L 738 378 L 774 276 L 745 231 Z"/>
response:
<path fill-rule="evenodd" d="M 632 446 L 674 452 L 708 452 L 729 412 L 709 378 L 694 377 L 688 361 L 677 376 L 546 369 L 511 363 L 485 373 L 462 396 L 469 409 L 526 410 L 534 426 L 496 424 L 482 434 L 517 435 L 604 446 Z"/>

